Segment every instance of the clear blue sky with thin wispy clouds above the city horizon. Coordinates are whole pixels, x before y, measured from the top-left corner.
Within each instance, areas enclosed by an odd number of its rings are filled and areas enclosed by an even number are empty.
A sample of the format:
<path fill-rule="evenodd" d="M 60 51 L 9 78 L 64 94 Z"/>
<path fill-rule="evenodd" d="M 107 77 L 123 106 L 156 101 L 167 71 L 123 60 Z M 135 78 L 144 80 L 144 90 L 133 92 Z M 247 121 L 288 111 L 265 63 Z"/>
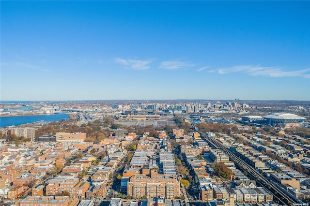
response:
<path fill-rule="evenodd" d="M 310 100 L 310 1 L 1 1 L 0 99 Z"/>

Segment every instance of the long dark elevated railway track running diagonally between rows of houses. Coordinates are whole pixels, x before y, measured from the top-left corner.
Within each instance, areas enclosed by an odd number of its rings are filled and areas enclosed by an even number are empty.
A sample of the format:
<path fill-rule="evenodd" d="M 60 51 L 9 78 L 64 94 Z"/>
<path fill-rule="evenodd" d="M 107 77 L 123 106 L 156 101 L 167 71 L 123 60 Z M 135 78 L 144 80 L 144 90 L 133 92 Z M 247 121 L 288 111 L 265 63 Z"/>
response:
<path fill-rule="evenodd" d="M 239 168 L 242 168 L 242 170 L 247 171 L 248 175 L 252 177 L 252 179 L 256 180 L 256 182 L 258 182 L 261 186 L 263 186 L 266 190 L 270 191 L 273 194 L 274 198 L 279 202 L 279 204 L 293 206 L 296 205 L 296 203 L 299 204 L 303 203 L 302 201 L 294 197 L 292 194 L 288 194 L 287 192 L 284 192 L 277 186 L 273 185 L 268 179 L 263 177 L 262 174 L 260 174 L 246 162 L 242 161 L 239 157 L 233 154 L 232 151 L 224 147 L 217 140 L 209 137 L 208 135 L 204 134 L 195 127 L 193 127 L 193 130 L 200 133 L 202 138 L 205 141 L 207 141 L 210 145 L 222 150 L 226 155 L 229 156 L 230 160 L 233 161 L 235 165 L 237 165 Z"/>

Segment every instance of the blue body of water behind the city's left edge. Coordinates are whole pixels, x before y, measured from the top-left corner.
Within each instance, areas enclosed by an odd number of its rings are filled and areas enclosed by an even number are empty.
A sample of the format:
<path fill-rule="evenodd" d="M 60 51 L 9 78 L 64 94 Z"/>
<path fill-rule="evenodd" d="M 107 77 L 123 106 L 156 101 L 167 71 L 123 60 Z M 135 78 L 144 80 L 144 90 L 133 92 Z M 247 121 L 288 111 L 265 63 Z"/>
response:
<path fill-rule="evenodd" d="M 62 119 L 69 119 L 69 115 L 59 113 L 54 115 L 35 115 L 35 116 L 14 116 L 14 117 L 0 117 L 0 128 L 7 126 L 18 126 L 21 124 L 28 124 L 36 121 L 58 121 Z"/>

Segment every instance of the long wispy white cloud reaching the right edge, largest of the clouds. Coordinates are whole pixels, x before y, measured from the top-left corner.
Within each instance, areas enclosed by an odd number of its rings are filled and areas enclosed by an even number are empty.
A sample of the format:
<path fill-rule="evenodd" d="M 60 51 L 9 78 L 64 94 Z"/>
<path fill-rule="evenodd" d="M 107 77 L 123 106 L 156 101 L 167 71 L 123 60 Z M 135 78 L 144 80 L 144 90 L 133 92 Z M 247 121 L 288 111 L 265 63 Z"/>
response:
<path fill-rule="evenodd" d="M 285 77 L 285 76 L 302 76 L 310 78 L 310 68 L 303 70 L 286 71 L 282 67 L 263 67 L 260 65 L 242 65 L 234 66 L 226 69 L 210 70 L 210 73 L 228 74 L 228 73 L 245 73 L 252 76 L 270 76 L 270 77 Z"/>

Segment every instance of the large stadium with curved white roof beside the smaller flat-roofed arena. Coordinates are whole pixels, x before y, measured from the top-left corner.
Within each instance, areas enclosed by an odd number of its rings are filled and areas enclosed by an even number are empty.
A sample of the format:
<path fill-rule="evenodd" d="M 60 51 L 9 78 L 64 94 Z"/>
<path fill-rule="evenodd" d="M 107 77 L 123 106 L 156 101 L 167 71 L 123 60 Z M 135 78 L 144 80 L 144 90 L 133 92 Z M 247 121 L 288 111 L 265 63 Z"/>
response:
<path fill-rule="evenodd" d="M 263 117 L 267 120 L 267 123 L 271 126 L 279 125 L 285 128 L 300 127 L 306 118 L 300 117 L 298 115 L 280 112 Z"/>

